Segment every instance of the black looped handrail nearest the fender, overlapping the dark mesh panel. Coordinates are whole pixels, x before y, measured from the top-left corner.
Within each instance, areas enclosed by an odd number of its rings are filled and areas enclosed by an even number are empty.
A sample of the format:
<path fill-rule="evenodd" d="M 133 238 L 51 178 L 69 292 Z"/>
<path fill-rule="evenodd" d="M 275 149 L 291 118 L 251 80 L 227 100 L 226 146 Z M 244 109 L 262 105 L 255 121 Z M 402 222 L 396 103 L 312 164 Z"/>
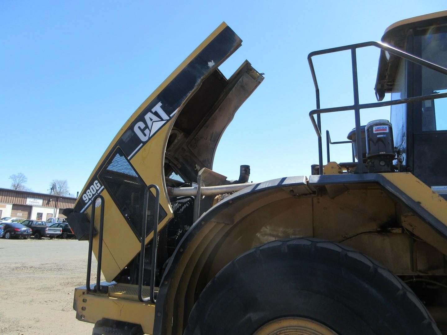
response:
<path fill-rule="evenodd" d="M 143 270 L 144 270 L 144 250 L 146 247 L 146 227 L 148 226 L 148 200 L 151 188 L 155 188 L 155 210 L 154 210 L 154 236 L 152 238 L 152 258 L 151 258 L 151 282 L 150 282 L 150 296 L 143 297 Z M 143 204 L 143 227 L 141 228 L 141 251 L 140 263 L 138 273 L 138 299 L 141 302 L 152 302 L 155 304 L 155 272 L 157 261 L 157 234 L 158 234 L 158 209 L 160 207 L 160 188 L 157 185 L 151 184 L 144 190 L 144 204 Z"/>

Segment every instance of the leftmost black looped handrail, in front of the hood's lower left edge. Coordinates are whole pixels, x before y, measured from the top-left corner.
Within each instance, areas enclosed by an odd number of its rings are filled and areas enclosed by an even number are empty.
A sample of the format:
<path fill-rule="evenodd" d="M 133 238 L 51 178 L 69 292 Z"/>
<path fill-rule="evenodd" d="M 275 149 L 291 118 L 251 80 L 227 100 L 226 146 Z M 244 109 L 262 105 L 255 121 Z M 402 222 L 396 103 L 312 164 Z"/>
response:
<path fill-rule="evenodd" d="M 90 220 L 90 233 L 89 233 L 89 258 L 87 260 L 87 279 L 86 279 L 86 289 L 90 292 L 90 272 L 92 270 L 92 249 L 93 249 L 93 227 L 95 225 L 95 208 L 96 200 L 101 199 L 101 215 L 99 218 L 99 240 L 98 240 L 98 265 L 96 270 L 96 286 L 94 291 L 101 292 L 101 261 L 102 261 L 102 236 L 104 232 L 104 197 L 101 194 L 97 194 L 92 198 L 92 218 Z"/>

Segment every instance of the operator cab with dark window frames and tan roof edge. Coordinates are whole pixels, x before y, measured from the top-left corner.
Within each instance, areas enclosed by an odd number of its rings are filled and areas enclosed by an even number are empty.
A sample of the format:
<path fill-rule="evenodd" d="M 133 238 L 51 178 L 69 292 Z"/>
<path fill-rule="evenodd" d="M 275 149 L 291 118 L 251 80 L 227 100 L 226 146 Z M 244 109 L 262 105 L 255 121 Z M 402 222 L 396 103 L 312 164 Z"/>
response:
<path fill-rule="evenodd" d="M 447 67 L 447 11 L 413 17 L 388 27 L 382 42 L 430 63 Z M 377 99 L 391 100 L 447 92 L 447 75 L 380 53 Z M 399 172 L 412 172 L 435 192 L 447 193 L 447 98 L 392 105 L 394 147 Z"/>

